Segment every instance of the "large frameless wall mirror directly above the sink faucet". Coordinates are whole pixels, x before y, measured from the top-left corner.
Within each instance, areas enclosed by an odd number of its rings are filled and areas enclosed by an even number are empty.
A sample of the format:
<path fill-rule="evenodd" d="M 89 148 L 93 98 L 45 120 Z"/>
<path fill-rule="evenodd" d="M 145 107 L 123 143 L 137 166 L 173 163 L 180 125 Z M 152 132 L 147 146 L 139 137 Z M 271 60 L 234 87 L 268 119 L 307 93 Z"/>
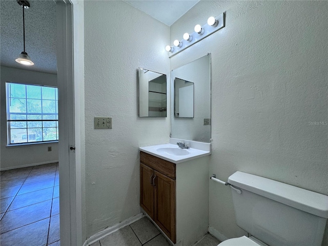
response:
<path fill-rule="evenodd" d="M 183 92 L 185 99 L 175 97 L 175 83 L 180 80 L 192 83 L 191 90 Z M 191 89 L 191 88 L 190 88 Z M 180 94 L 180 93 L 179 93 Z M 189 95 L 186 98 L 186 95 Z M 193 99 L 191 96 L 193 95 Z M 179 95 L 180 97 L 180 95 Z M 211 54 L 202 56 L 191 63 L 185 64 L 171 72 L 171 137 L 185 140 L 210 142 L 211 126 L 204 125 L 204 119 L 211 122 Z M 175 102 L 175 103 L 174 103 Z M 193 117 L 190 115 L 193 102 Z M 186 109 L 188 116 L 176 115 L 178 108 Z M 182 104 L 182 105 L 181 105 Z"/>

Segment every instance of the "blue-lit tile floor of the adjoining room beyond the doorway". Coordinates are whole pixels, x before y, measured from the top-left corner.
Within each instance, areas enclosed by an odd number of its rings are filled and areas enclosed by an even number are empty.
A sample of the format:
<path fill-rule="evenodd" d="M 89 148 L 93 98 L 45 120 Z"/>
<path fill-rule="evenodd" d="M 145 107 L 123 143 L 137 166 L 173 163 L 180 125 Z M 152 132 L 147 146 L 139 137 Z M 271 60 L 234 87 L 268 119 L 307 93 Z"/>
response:
<path fill-rule="evenodd" d="M 58 163 L 1 171 L 2 246 L 60 246 Z"/>

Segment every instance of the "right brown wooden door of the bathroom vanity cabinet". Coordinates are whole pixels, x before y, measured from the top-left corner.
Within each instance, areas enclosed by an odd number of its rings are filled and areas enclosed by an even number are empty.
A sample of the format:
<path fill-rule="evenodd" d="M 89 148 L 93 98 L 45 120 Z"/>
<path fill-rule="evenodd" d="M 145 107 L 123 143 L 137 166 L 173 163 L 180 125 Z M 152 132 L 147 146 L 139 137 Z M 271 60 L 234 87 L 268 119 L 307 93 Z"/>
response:
<path fill-rule="evenodd" d="M 176 243 L 175 235 L 175 180 L 154 171 L 155 214 L 154 221 Z"/>

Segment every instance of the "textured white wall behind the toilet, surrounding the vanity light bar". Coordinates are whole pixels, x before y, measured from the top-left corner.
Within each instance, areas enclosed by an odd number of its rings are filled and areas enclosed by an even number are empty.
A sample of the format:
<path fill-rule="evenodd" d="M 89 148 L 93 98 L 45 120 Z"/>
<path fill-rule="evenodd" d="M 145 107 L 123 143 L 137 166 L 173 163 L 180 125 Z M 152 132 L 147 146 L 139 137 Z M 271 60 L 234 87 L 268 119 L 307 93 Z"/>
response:
<path fill-rule="evenodd" d="M 328 126 L 311 122 L 328 121 L 328 2 L 200 1 L 171 26 L 170 43 L 224 11 L 226 27 L 170 60 L 212 53 L 210 174 L 239 170 L 327 195 Z M 230 189 L 214 182 L 210 226 L 237 236 Z"/>

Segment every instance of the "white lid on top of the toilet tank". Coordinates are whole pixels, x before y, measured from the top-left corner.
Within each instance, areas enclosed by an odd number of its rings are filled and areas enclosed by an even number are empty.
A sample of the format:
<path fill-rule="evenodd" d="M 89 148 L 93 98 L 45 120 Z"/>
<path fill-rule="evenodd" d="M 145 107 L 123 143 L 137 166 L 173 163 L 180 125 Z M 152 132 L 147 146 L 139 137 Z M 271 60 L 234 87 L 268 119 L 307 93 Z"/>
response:
<path fill-rule="evenodd" d="M 231 175 L 228 182 L 304 212 L 328 218 L 328 196 L 239 171 Z"/>

